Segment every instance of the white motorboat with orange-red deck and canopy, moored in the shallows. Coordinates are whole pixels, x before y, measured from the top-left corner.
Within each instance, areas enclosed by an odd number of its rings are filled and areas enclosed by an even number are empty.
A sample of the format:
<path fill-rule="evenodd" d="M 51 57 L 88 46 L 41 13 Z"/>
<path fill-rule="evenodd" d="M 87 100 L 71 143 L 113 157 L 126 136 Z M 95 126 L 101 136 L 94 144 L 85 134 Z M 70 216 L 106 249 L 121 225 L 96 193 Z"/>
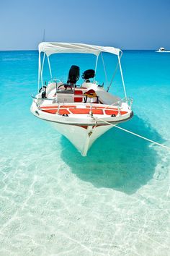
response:
<path fill-rule="evenodd" d="M 109 93 L 112 81 L 107 90 L 104 89 L 103 84 L 101 85 L 95 81 L 98 57 L 102 52 L 117 56 L 117 67 L 120 67 L 122 86 L 125 93 L 125 97 L 122 99 Z M 43 53 L 43 57 L 41 53 Z M 83 72 L 82 78 L 84 82 L 81 85 L 76 85 L 79 80 L 80 69 L 75 65 L 71 66 L 66 82 L 62 82 L 59 79 L 53 80 L 50 56 L 51 54 L 59 53 L 95 54 L 97 56 L 95 70 L 88 69 Z M 107 132 L 116 124 L 128 121 L 133 117 L 131 108 L 133 100 L 126 95 L 120 64 L 121 56 L 122 51 L 113 47 L 92 46 L 82 43 L 43 42 L 39 45 L 38 93 L 32 96 L 33 101 L 30 110 L 38 118 L 50 121 L 58 132 L 73 143 L 81 152 L 81 155 L 85 156 L 92 143 L 104 132 Z M 48 85 L 46 83 L 44 85 L 42 80 L 45 57 L 48 59 L 51 77 Z M 104 72 L 107 74 L 105 65 Z"/>

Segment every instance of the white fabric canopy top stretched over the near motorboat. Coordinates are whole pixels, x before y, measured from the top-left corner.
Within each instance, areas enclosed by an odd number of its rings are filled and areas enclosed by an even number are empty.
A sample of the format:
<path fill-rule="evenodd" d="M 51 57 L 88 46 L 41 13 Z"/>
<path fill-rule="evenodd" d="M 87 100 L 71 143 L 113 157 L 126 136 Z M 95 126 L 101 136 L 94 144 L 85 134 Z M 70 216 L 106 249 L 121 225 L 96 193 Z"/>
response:
<path fill-rule="evenodd" d="M 47 56 L 51 54 L 63 53 L 79 53 L 79 54 L 95 54 L 99 55 L 101 52 L 119 55 L 122 52 L 118 48 L 109 46 L 93 46 L 84 43 L 50 43 L 42 42 L 39 44 L 39 53 L 44 52 Z"/>

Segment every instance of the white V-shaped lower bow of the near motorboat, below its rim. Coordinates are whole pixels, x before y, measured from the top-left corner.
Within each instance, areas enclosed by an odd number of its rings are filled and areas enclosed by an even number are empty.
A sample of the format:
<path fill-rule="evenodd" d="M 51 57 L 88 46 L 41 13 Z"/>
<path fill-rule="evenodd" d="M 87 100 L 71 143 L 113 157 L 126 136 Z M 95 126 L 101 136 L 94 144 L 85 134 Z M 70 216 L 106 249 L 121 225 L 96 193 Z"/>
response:
<path fill-rule="evenodd" d="M 51 123 L 58 132 L 64 135 L 75 146 L 81 155 L 86 156 L 89 148 L 98 137 L 112 128 L 111 125 L 101 125 L 98 127 L 78 126 Z"/>

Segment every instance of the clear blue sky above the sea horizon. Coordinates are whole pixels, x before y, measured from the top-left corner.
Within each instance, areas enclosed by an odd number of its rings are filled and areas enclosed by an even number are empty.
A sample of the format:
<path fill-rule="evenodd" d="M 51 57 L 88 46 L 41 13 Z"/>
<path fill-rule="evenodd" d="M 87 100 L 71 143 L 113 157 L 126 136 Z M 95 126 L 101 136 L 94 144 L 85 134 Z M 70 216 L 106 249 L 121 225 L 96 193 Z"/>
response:
<path fill-rule="evenodd" d="M 170 48 L 170 0 L 1 0 L 0 50 L 46 41 Z"/>

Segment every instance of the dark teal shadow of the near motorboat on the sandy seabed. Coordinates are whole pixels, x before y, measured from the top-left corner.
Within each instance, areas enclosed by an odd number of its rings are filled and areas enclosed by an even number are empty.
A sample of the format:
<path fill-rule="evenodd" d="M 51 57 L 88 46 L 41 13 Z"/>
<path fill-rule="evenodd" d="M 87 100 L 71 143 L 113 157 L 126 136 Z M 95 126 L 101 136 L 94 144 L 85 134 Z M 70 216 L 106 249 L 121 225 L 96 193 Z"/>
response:
<path fill-rule="evenodd" d="M 158 132 L 138 116 L 121 126 L 163 142 Z M 129 195 L 153 178 L 159 158 L 151 143 L 117 128 L 110 129 L 94 142 L 86 157 L 81 156 L 63 136 L 61 144 L 63 161 L 79 179 L 91 182 L 95 187 L 112 188 Z"/>

